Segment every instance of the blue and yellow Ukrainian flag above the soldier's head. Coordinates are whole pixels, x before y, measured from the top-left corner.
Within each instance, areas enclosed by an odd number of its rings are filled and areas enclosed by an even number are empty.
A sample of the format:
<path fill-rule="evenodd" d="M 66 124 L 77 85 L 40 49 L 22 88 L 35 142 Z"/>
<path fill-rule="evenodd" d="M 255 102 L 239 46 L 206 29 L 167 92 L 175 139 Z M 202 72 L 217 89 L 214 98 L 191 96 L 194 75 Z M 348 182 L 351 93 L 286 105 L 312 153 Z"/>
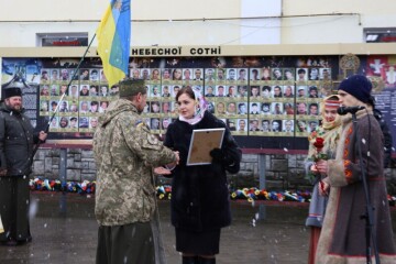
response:
<path fill-rule="evenodd" d="M 97 30 L 98 54 L 112 86 L 128 75 L 131 46 L 131 0 L 110 0 Z"/>

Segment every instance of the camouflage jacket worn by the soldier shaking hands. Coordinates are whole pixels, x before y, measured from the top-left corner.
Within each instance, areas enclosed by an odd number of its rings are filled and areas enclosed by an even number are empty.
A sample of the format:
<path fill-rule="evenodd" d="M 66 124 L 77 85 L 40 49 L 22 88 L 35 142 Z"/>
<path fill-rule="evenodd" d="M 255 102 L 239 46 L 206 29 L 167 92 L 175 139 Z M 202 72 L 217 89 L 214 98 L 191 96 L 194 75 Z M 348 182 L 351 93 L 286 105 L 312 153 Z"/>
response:
<path fill-rule="evenodd" d="M 110 103 L 94 135 L 95 215 L 101 226 L 147 222 L 155 210 L 153 167 L 175 161 L 128 100 Z"/>

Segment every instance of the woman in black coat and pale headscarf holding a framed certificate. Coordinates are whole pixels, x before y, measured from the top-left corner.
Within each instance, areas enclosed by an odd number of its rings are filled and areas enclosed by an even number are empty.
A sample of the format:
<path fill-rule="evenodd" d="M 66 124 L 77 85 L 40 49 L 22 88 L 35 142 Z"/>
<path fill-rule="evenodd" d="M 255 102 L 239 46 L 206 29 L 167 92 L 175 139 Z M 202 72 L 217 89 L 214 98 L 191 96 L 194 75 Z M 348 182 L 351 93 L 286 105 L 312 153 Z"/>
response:
<path fill-rule="evenodd" d="M 172 224 L 176 250 L 184 264 L 216 263 L 220 229 L 231 223 L 227 174 L 238 173 L 241 150 L 224 122 L 206 111 L 206 101 L 190 87 L 176 96 L 179 118 L 166 133 L 165 145 L 179 152 L 180 162 L 172 168 Z M 210 165 L 186 166 L 193 130 L 224 128 L 221 148 L 210 152 Z"/>

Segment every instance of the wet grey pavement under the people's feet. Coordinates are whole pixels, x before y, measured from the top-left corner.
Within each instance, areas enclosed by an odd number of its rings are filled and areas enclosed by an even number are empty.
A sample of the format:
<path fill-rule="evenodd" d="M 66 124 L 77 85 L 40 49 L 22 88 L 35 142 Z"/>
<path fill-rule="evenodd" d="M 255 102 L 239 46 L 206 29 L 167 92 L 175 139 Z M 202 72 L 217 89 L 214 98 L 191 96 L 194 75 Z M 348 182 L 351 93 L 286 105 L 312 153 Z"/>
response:
<path fill-rule="evenodd" d="M 94 196 L 33 193 L 33 242 L 0 246 L 0 263 L 95 263 L 97 222 L 94 202 Z M 232 202 L 233 223 L 222 230 L 217 263 L 306 263 L 309 230 L 304 222 L 307 204 L 258 204 Z M 169 222 L 169 201 L 160 201 L 158 206 L 167 264 L 179 264 L 180 255 L 175 251 L 174 229 Z M 265 219 L 254 221 L 257 215 Z M 392 217 L 396 230 L 394 208 Z"/>

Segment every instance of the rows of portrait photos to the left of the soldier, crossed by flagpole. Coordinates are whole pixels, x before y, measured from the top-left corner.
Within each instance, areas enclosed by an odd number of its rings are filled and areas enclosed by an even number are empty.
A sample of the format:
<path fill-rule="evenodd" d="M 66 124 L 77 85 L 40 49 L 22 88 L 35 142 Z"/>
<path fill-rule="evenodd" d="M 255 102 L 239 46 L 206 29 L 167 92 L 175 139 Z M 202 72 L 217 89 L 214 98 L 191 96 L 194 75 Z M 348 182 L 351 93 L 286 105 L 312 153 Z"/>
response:
<path fill-rule="evenodd" d="M 41 69 L 38 118 L 48 119 L 55 113 L 51 120 L 50 132 L 73 133 L 95 130 L 99 114 L 117 99 L 117 92 L 109 88 L 102 72 L 100 68 L 81 68 L 70 82 L 73 69 Z"/>

